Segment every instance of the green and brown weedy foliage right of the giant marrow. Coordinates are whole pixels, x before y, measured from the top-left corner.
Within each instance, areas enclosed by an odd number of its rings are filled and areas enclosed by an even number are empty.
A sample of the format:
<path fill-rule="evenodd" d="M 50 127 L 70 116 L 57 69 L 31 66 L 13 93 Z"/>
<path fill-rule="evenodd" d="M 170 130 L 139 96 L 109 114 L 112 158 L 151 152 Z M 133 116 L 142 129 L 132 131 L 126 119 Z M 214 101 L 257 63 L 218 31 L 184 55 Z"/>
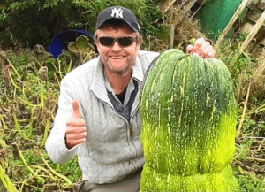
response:
<path fill-rule="evenodd" d="M 242 130 L 238 130 L 233 160 L 239 191 L 264 191 L 264 60 L 249 50 L 239 52 L 245 39 L 246 34 L 241 34 L 234 42 L 223 40 L 217 48 L 216 58 L 223 60 L 231 71 L 239 106 L 238 127 L 240 121 L 243 122 Z"/>

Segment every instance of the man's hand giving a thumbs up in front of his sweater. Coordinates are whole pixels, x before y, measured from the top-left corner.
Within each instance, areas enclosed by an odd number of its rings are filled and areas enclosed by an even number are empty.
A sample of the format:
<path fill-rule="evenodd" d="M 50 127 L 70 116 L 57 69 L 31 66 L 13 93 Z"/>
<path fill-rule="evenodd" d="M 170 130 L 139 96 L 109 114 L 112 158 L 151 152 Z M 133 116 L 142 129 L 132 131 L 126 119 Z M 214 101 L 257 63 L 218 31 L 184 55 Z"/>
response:
<path fill-rule="evenodd" d="M 66 147 L 68 149 L 86 142 L 87 137 L 86 121 L 82 119 L 78 100 L 72 102 L 72 108 L 72 116 L 66 122 Z"/>

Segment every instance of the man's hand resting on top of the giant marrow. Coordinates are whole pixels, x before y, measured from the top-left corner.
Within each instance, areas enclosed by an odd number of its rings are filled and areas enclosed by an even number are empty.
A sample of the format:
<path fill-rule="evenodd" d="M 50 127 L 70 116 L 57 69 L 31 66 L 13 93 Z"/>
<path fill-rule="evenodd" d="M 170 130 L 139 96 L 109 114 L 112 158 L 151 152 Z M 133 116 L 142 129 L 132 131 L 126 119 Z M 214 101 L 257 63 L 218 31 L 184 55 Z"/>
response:
<path fill-rule="evenodd" d="M 191 44 L 188 45 L 186 50 L 191 54 L 198 54 L 201 58 L 215 58 L 216 56 L 216 50 L 214 50 L 213 46 L 210 45 L 209 42 L 205 41 L 203 37 L 197 39 L 194 46 Z"/>

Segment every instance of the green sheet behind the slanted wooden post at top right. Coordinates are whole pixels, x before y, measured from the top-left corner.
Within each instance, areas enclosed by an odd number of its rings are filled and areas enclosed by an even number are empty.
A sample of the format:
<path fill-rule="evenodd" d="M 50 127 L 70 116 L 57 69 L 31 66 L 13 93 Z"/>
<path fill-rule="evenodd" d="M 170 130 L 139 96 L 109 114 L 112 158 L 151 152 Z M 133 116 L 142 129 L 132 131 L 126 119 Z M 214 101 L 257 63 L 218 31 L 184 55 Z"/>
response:
<path fill-rule="evenodd" d="M 201 20 L 201 32 L 216 39 L 223 31 L 243 0 L 208 0 L 197 14 Z"/>

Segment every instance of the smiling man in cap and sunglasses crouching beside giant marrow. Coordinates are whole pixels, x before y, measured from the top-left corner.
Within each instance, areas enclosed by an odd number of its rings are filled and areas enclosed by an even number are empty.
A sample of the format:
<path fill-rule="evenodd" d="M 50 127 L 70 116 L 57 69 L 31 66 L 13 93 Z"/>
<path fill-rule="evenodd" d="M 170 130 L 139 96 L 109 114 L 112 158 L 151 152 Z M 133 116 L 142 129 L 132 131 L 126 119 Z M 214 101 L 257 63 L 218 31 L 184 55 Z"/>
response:
<path fill-rule="evenodd" d="M 159 56 L 142 51 L 140 26 L 124 7 L 100 12 L 95 45 L 100 53 L 61 81 L 58 111 L 46 142 L 49 157 L 63 163 L 79 155 L 83 181 L 74 191 L 139 191 L 145 163 L 140 142 L 140 85 Z M 216 52 L 203 38 L 190 53 Z"/>

